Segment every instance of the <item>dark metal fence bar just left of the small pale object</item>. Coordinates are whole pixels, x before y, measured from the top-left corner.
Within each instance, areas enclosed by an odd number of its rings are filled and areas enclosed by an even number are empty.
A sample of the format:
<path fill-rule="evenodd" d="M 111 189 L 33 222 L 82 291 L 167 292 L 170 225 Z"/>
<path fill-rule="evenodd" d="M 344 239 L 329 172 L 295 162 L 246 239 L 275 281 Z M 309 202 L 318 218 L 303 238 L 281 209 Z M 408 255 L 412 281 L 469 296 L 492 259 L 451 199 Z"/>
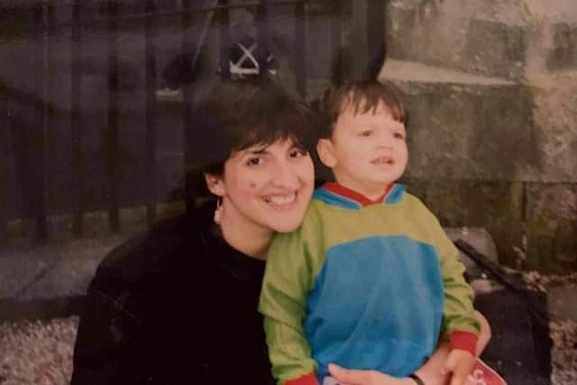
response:
<path fill-rule="evenodd" d="M 156 44 L 154 41 L 155 0 L 146 1 L 146 12 L 150 13 L 145 22 L 145 57 L 146 57 L 146 172 L 151 180 L 150 192 L 146 202 L 146 219 L 149 227 L 156 221 Z"/>

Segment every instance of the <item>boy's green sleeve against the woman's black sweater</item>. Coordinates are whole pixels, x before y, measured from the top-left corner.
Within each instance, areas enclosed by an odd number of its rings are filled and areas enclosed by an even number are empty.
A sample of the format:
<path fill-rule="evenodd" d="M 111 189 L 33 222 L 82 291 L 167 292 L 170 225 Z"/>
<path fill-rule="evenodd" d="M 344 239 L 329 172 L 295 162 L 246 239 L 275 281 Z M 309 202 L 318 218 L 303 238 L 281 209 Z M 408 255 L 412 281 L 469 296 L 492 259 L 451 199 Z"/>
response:
<path fill-rule="evenodd" d="M 279 384 L 316 372 L 303 320 L 323 254 L 320 227 L 310 222 L 307 215 L 297 231 L 277 234 L 267 255 L 259 311 L 264 316 L 272 374 Z"/>

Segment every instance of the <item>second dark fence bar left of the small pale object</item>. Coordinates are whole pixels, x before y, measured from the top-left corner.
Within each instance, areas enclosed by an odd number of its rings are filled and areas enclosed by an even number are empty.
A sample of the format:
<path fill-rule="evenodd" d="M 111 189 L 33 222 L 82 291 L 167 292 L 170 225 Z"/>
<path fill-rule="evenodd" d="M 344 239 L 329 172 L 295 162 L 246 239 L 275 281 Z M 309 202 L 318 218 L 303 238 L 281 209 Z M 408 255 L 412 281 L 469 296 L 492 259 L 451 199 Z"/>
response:
<path fill-rule="evenodd" d="M 105 152 L 108 154 L 108 219 L 113 233 L 120 232 L 118 209 L 118 0 L 108 0 L 108 127 Z"/>

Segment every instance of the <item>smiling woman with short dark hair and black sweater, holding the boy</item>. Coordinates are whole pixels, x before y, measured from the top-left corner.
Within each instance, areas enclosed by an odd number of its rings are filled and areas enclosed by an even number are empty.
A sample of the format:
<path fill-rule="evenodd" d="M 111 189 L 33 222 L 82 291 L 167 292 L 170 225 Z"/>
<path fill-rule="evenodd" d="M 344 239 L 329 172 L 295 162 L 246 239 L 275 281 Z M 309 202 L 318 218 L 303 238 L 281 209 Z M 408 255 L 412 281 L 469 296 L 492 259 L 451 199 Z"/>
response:
<path fill-rule="evenodd" d="M 73 385 L 274 383 L 257 312 L 264 257 L 275 232 L 302 221 L 319 120 L 266 78 L 224 82 L 195 116 L 190 137 L 203 137 L 194 151 L 216 202 L 102 261 L 80 317 Z"/>

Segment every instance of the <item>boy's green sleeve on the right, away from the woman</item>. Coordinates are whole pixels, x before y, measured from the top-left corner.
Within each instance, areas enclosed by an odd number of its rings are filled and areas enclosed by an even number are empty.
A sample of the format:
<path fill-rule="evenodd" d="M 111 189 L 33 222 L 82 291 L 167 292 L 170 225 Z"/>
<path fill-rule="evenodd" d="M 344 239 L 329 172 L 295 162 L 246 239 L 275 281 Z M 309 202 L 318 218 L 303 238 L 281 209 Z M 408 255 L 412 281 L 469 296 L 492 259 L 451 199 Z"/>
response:
<path fill-rule="evenodd" d="M 448 336 L 452 332 L 470 332 L 479 336 L 480 325 L 472 306 L 474 292 L 465 281 L 463 262 L 459 250 L 444 233 L 435 218 L 435 244 L 441 262 L 444 287 L 443 331 Z"/>

